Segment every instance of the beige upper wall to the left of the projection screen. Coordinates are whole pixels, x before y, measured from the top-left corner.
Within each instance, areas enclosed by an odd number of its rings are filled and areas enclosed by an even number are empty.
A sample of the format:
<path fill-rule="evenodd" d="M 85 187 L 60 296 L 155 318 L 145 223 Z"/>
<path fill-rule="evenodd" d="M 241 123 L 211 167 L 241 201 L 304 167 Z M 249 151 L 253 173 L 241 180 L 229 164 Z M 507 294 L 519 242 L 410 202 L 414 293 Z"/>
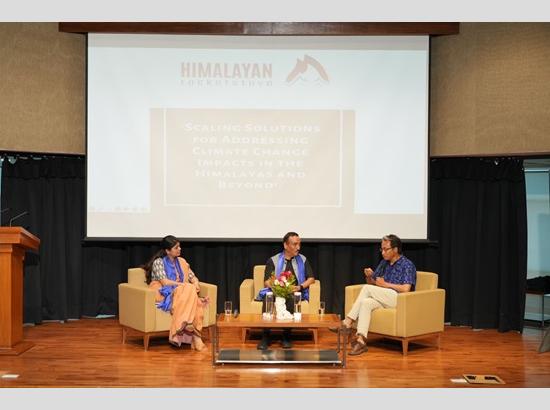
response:
<path fill-rule="evenodd" d="M 0 150 L 85 152 L 83 35 L 0 23 Z"/>

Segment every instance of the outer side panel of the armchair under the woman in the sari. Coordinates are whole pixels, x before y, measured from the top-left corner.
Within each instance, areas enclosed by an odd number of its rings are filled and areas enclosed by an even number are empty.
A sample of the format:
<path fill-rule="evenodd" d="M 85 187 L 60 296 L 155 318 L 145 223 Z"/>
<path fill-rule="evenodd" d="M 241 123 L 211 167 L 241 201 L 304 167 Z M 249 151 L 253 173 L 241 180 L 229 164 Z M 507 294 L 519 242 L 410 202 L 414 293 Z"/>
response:
<path fill-rule="evenodd" d="M 155 329 L 155 291 L 129 283 L 118 285 L 118 320 L 142 332 Z"/>

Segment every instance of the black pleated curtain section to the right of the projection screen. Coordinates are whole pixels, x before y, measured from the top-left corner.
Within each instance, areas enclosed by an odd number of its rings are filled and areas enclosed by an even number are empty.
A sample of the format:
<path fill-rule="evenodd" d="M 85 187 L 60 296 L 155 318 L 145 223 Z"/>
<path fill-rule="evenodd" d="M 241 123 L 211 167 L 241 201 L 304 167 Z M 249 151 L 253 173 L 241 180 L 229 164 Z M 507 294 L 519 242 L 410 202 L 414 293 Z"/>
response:
<path fill-rule="evenodd" d="M 523 161 L 431 162 L 430 237 L 453 325 L 520 330 L 525 310 L 527 207 Z"/>

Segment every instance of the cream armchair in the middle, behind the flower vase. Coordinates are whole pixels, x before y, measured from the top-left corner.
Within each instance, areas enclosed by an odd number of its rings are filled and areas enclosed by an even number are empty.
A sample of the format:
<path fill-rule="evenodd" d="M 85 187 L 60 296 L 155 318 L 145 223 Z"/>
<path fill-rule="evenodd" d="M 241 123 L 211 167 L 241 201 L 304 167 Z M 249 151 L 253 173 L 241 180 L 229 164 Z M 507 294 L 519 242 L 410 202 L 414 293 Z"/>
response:
<path fill-rule="evenodd" d="M 254 266 L 253 279 L 245 279 L 239 289 L 239 304 L 241 313 L 262 313 L 262 302 L 254 300 L 264 287 L 265 265 Z M 315 282 L 309 287 L 309 301 L 302 302 L 302 313 L 317 313 L 321 300 L 321 282 Z M 242 330 L 242 342 L 246 340 L 249 329 Z M 312 329 L 315 344 L 317 344 L 317 330 Z"/>

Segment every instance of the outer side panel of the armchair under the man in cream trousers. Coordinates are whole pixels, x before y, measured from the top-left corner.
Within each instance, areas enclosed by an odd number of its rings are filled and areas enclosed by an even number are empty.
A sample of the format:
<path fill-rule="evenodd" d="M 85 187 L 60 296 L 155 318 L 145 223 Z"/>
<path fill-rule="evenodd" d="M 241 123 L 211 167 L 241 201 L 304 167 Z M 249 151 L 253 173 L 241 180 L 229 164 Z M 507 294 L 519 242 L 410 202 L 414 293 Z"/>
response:
<path fill-rule="evenodd" d="M 418 290 L 397 295 L 397 335 L 417 336 L 442 332 L 445 289 Z"/>

